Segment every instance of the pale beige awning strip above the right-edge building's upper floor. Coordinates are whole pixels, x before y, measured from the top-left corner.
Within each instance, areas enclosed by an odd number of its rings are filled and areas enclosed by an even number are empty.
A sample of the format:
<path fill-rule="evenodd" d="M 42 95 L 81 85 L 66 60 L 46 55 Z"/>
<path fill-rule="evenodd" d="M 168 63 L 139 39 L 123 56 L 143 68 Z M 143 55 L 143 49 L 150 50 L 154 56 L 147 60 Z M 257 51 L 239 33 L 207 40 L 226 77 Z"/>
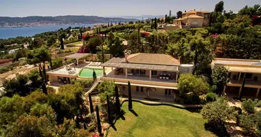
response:
<path fill-rule="evenodd" d="M 231 72 L 238 73 L 261 73 L 261 67 L 247 67 L 247 66 L 226 66 Z"/>

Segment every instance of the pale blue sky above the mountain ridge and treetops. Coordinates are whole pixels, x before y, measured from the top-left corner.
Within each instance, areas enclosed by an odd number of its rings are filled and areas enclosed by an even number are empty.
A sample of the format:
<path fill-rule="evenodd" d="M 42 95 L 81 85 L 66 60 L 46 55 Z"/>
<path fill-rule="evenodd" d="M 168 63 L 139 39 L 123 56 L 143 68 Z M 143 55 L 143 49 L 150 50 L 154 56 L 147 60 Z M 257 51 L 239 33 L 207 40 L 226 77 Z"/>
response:
<path fill-rule="evenodd" d="M 140 16 L 176 14 L 181 10 L 213 11 L 219 0 L 0 0 L 0 16 Z M 225 10 L 238 12 L 261 0 L 223 0 Z"/>

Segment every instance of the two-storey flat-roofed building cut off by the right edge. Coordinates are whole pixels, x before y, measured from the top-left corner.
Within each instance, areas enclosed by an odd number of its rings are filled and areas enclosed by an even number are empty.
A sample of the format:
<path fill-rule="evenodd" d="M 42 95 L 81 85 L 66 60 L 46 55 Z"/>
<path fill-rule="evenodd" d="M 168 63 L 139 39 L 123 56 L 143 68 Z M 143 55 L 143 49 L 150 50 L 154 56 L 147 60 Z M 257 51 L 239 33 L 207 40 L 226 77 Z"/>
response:
<path fill-rule="evenodd" d="M 238 97 L 239 91 L 242 90 L 242 97 L 261 99 L 261 60 L 216 58 L 212 66 L 225 66 L 230 71 L 230 82 L 224 88 L 228 95 Z M 245 88 L 242 89 L 245 73 Z"/>

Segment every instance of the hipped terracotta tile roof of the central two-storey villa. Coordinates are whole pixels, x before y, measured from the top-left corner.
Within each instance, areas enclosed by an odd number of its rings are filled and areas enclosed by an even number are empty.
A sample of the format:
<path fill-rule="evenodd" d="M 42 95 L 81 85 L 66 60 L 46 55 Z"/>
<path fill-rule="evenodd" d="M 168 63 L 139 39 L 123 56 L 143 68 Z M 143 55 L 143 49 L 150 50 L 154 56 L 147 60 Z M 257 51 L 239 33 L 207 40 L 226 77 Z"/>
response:
<path fill-rule="evenodd" d="M 126 62 L 126 60 L 124 60 Z M 128 55 L 128 63 L 136 64 L 161 64 L 161 65 L 180 65 L 179 60 L 171 55 L 161 53 L 135 53 Z"/>

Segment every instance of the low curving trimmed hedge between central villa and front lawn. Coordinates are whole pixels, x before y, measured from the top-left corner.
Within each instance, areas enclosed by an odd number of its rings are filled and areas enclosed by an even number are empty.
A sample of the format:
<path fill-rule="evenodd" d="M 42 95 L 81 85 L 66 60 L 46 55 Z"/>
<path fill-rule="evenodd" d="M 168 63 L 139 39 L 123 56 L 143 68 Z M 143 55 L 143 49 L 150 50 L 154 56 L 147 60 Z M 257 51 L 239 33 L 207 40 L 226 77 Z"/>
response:
<path fill-rule="evenodd" d="M 122 101 L 122 104 L 126 101 L 128 101 L 128 99 L 124 99 Z M 181 108 L 183 110 L 201 110 L 202 109 L 202 106 L 183 106 L 183 105 L 178 105 L 178 104 L 174 104 L 174 103 L 147 102 L 147 101 L 141 101 L 139 99 L 132 99 L 132 101 L 139 102 L 139 103 L 142 103 L 144 105 L 168 105 L 168 106 L 171 106 L 171 107 L 174 107 L 174 108 Z"/>

